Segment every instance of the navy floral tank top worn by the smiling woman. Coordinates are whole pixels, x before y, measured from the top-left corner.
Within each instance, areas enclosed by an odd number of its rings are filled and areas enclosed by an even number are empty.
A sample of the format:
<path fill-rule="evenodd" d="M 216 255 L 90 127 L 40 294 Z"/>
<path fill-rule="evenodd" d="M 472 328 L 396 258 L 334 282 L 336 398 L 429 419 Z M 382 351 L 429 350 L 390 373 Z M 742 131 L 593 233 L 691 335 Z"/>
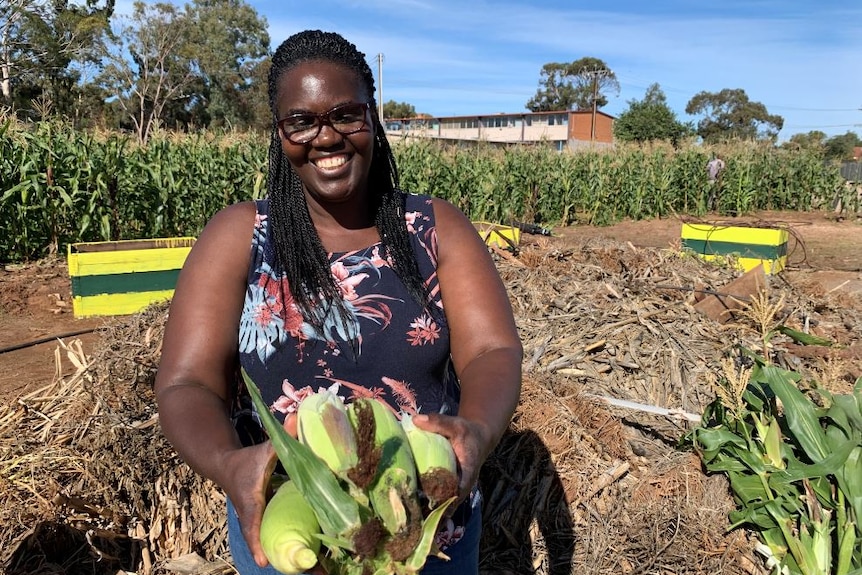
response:
<path fill-rule="evenodd" d="M 352 322 L 344 327 L 333 312 L 326 317 L 322 333 L 303 320 L 290 299 L 287 279 L 275 272 L 275 246 L 268 234 L 269 200 L 256 201 L 248 288 L 239 326 L 239 361 L 280 421 L 305 396 L 321 388 L 346 403 L 371 396 L 398 412 L 457 413 L 460 390 L 450 361 L 449 329 L 437 283 L 431 198 L 405 196 L 410 242 L 440 313 L 428 313 L 413 299 L 378 242 L 329 254 L 332 276 Z M 282 294 L 287 294 L 288 301 Z M 247 392 L 240 389 L 237 396 L 233 418 L 243 442 L 263 441 Z M 438 534 L 441 548 L 460 539 L 471 508 L 470 502 L 465 503 Z"/>

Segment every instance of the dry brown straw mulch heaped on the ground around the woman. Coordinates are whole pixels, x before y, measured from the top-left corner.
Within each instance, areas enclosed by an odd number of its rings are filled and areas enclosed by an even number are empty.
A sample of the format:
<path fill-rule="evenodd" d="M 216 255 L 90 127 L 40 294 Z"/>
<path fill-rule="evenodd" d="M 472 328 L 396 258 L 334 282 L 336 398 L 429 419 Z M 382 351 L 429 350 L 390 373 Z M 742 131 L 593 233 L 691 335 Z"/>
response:
<path fill-rule="evenodd" d="M 482 572 L 765 573 L 749 534 L 726 533 L 726 482 L 679 445 L 732 344 L 758 349 L 756 314 L 721 325 L 691 305 L 698 286 L 739 274 L 610 241 L 543 238 L 495 257 L 524 386 L 483 470 Z M 770 283 L 788 325 L 859 349 L 858 298 Z M 166 316 L 162 305 L 114 321 L 91 357 L 63 343 L 57 361 L 77 373 L 0 407 L 0 571 L 232 572 L 223 494 L 160 433 L 152 382 Z M 862 354 L 771 345 L 775 361 L 838 391 L 862 375 Z"/>

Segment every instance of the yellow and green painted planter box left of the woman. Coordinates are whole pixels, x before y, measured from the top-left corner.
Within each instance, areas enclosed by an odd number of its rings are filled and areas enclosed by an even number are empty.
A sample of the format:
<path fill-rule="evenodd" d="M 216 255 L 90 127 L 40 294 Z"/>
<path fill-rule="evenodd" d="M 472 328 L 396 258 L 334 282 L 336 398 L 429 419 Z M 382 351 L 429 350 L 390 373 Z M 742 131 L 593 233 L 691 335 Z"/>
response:
<path fill-rule="evenodd" d="M 170 299 L 195 238 L 69 246 L 75 317 L 129 315 Z"/>

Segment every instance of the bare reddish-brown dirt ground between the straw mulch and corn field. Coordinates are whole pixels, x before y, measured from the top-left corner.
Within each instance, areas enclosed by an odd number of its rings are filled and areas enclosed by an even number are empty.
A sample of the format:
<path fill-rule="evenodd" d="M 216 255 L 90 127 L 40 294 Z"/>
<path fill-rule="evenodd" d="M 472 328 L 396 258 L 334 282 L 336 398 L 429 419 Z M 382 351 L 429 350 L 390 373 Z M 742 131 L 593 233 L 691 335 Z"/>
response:
<path fill-rule="evenodd" d="M 805 276 L 825 290 L 862 293 L 862 221 L 824 212 L 769 212 L 736 219 L 710 219 L 727 225 L 783 224 L 788 245 L 789 281 Z M 550 241 L 565 245 L 591 238 L 611 238 L 643 247 L 680 244 L 682 220 L 625 221 L 610 227 L 572 226 L 554 230 Z M 521 241 L 538 236 L 522 235 Z M 75 318 L 71 285 L 63 259 L 42 260 L 0 269 L 0 400 L 14 401 L 57 377 L 57 339 L 80 339 L 90 351 L 97 328 L 111 318 Z M 64 365 L 69 365 L 64 362 Z"/>

